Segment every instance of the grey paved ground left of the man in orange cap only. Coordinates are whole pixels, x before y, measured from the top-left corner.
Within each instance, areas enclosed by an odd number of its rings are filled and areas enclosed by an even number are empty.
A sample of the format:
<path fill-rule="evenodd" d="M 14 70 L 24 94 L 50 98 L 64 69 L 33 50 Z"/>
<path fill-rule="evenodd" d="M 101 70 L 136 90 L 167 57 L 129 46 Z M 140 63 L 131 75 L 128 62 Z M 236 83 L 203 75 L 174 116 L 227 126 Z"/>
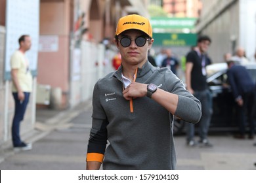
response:
<path fill-rule="evenodd" d="M 53 116 L 52 113 L 49 115 Z M 27 138 L 33 142 L 33 149 L 14 152 L 8 148 L 4 161 L 0 161 L 0 169 L 85 169 L 91 108 L 85 104 L 48 120 L 43 120 L 44 115 L 47 116 L 47 112 L 42 110 L 40 118 L 44 123 L 37 123 L 37 130 Z"/>

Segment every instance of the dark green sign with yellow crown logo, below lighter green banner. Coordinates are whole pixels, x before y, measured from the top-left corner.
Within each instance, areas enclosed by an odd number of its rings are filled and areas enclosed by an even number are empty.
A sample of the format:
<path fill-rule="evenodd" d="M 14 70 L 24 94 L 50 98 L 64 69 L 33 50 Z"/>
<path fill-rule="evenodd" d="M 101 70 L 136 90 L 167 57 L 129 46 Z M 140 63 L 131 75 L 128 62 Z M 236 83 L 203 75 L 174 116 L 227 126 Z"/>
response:
<path fill-rule="evenodd" d="M 197 34 L 194 33 L 153 33 L 154 46 L 195 46 Z"/>

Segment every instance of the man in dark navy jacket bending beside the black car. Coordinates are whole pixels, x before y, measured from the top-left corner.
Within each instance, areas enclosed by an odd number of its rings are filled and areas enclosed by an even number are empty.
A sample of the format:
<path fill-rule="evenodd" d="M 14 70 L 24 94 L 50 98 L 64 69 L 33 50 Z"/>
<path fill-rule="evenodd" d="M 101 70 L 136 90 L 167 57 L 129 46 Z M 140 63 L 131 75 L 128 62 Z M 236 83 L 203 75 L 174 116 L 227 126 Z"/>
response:
<path fill-rule="evenodd" d="M 245 124 L 247 119 L 250 125 L 249 139 L 253 139 L 255 129 L 253 122 L 255 84 L 244 66 L 236 65 L 232 58 L 227 61 L 227 64 L 228 82 L 232 88 L 232 93 L 236 101 L 240 128 L 240 133 L 234 137 L 237 139 L 245 139 Z M 245 112 L 247 112 L 247 116 Z"/>

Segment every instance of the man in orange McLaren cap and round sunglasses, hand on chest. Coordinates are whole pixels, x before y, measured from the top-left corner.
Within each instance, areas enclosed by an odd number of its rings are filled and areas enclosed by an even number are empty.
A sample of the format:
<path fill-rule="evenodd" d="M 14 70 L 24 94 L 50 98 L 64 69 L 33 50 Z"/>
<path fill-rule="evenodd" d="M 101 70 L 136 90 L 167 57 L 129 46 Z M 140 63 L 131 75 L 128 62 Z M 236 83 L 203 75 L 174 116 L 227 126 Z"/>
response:
<path fill-rule="evenodd" d="M 175 169 L 173 116 L 196 124 L 201 103 L 169 69 L 149 63 L 147 18 L 120 18 L 114 41 L 121 67 L 95 84 L 87 169 Z"/>

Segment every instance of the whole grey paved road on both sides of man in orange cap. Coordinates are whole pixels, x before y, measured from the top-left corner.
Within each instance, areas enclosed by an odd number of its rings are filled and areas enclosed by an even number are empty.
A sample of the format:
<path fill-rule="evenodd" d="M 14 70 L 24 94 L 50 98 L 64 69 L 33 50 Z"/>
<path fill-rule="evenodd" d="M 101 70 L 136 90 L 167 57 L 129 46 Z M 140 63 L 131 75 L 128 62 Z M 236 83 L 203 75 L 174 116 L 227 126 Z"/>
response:
<path fill-rule="evenodd" d="M 0 161 L 0 169 L 85 169 L 91 112 L 88 105 L 81 106 L 64 112 L 56 122 L 37 123 L 37 135 L 29 138 L 33 149 L 14 153 L 10 148 Z M 177 169 L 256 169 L 254 141 L 235 140 L 225 134 L 211 135 L 210 139 L 213 148 L 188 148 L 184 135 L 175 137 Z"/>

